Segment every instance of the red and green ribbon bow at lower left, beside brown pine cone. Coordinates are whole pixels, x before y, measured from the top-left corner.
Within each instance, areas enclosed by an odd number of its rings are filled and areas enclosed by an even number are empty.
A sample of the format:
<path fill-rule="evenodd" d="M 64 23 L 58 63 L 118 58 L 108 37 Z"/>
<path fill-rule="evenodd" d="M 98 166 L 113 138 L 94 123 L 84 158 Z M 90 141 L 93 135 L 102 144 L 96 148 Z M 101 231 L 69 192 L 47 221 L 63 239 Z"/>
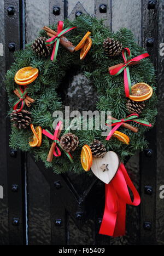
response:
<path fill-rule="evenodd" d="M 58 156 L 61 156 L 61 151 L 60 151 L 60 149 L 58 148 L 58 146 L 62 149 L 62 147 L 61 147 L 61 145 L 60 145 L 60 140 L 57 138 L 57 133 L 58 133 L 58 129 L 60 128 L 60 126 L 61 126 L 61 124 L 62 124 L 62 122 L 61 121 L 59 121 L 58 123 L 57 123 L 57 126 L 56 126 L 56 128 L 55 128 L 55 132 L 54 132 L 54 135 L 52 134 L 52 133 L 50 133 L 49 132 L 49 130 L 47 130 L 47 129 L 43 129 L 42 130 L 42 133 L 45 135 L 45 136 L 47 136 L 48 138 L 50 138 L 51 140 L 54 140 L 54 143 L 55 143 L 55 147 L 54 147 L 54 156 L 55 157 L 58 157 Z M 67 129 L 68 130 L 68 129 Z M 67 132 L 67 130 L 66 130 L 66 132 Z M 66 133 L 65 132 L 65 133 Z M 63 149 L 62 149 L 63 150 Z M 56 152 L 57 151 L 57 152 Z M 63 150 L 64 152 L 65 152 L 65 154 L 66 154 L 66 156 L 69 158 L 69 160 L 71 161 L 71 163 L 73 163 L 73 157 L 72 157 L 72 155 L 71 155 L 71 153 L 69 153 L 69 152 L 66 152 L 65 150 Z"/>

